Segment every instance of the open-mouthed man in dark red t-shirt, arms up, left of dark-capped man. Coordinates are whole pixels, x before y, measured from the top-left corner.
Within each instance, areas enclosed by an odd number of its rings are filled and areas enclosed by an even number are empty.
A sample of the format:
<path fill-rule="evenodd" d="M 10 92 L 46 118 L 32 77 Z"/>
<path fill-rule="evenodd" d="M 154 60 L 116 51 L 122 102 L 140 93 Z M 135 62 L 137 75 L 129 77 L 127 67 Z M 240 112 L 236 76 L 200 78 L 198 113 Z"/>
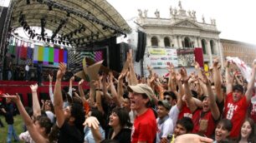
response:
<path fill-rule="evenodd" d="M 188 76 L 184 68 L 181 70 L 182 80 L 184 81 L 184 91 L 187 96 L 187 104 L 190 111 L 197 109 L 197 105 L 192 99 L 192 92 L 189 89 Z M 211 137 L 215 129 L 215 122 L 220 117 L 218 106 L 216 104 L 210 81 L 204 72 L 201 71 L 202 81 L 206 85 L 207 96 L 202 100 L 202 109 L 193 112 L 192 120 L 194 123 L 193 133 L 201 133 L 207 137 Z"/>

